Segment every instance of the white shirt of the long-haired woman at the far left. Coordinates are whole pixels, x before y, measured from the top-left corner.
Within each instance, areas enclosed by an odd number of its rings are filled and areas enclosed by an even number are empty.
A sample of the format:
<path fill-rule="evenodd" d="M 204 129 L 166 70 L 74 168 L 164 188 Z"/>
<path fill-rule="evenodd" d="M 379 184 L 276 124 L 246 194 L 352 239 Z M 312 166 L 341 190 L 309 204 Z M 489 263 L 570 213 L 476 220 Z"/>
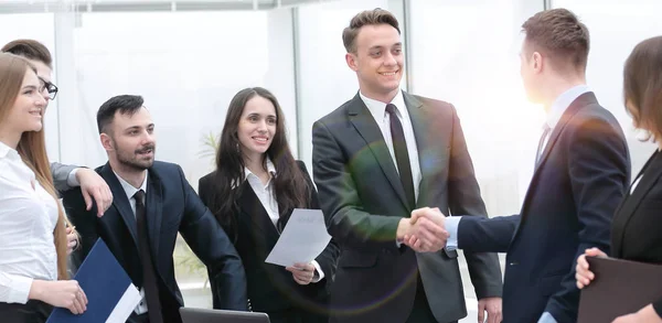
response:
<path fill-rule="evenodd" d="M 57 202 L 0 142 L 0 302 L 26 303 L 34 279 L 57 280 Z"/>

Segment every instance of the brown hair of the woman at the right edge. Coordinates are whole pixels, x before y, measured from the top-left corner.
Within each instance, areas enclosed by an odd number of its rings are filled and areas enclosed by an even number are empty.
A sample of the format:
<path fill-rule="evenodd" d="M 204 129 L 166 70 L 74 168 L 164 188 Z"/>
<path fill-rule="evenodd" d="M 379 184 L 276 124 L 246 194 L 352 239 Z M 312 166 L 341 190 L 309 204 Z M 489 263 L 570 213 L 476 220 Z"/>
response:
<path fill-rule="evenodd" d="M 662 139 L 662 36 L 632 50 L 623 68 L 623 100 L 634 126 Z"/>

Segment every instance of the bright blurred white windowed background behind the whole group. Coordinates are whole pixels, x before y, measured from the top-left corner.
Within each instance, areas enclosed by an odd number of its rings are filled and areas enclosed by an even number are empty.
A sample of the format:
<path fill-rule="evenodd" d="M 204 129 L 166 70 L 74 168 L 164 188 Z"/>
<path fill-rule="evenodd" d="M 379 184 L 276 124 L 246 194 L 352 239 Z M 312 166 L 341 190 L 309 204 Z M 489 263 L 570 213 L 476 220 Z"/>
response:
<path fill-rule="evenodd" d="M 623 128 L 637 173 L 655 149 L 640 142 L 622 103 L 633 46 L 662 34 L 660 0 L 1 0 L 0 43 L 35 39 L 54 54 L 57 98 L 46 114 L 53 161 L 106 162 L 96 110 L 142 95 L 157 125 L 157 158 L 179 163 L 193 187 L 213 170 L 232 96 L 263 86 L 279 99 L 295 155 L 311 164 L 311 126 L 357 90 L 342 29 L 361 10 L 396 14 L 409 93 L 452 103 L 490 216 L 519 212 L 542 132 L 542 107 L 519 76 L 521 24 L 566 8 L 591 35 L 588 84 Z M 189 306 L 211 306 L 206 273 L 180 243 L 178 279 Z M 462 262 L 469 316 L 476 300 Z"/>

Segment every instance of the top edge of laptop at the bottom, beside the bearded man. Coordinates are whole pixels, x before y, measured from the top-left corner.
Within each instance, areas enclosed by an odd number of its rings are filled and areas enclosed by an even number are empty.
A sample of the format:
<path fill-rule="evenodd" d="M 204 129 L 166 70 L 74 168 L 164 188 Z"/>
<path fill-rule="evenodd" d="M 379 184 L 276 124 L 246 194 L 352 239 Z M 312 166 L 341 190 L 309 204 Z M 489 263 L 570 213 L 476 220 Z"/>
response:
<path fill-rule="evenodd" d="M 183 323 L 269 323 L 269 315 L 257 312 L 180 308 Z"/>

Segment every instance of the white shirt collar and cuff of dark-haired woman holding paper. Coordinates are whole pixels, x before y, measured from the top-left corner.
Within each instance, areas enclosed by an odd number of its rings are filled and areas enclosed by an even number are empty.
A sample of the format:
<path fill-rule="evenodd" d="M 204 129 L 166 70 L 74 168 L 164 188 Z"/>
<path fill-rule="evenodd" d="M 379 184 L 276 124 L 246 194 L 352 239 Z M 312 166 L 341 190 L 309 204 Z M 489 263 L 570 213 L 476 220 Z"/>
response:
<path fill-rule="evenodd" d="M 274 226 L 278 227 L 278 218 L 280 217 L 280 212 L 278 212 L 278 201 L 276 201 L 276 195 L 274 194 L 274 185 L 271 182 L 271 179 L 276 176 L 276 168 L 274 166 L 271 160 L 268 158 L 267 172 L 269 173 L 269 180 L 266 184 L 263 184 L 261 180 L 256 174 L 254 174 L 248 168 L 244 168 L 244 174 L 246 175 L 246 181 L 248 181 L 250 189 L 253 189 L 253 192 L 255 192 L 255 195 L 257 195 L 257 200 L 259 200 L 259 203 L 263 205 L 265 211 L 267 211 L 267 214 L 269 215 L 269 218 L 271 219 Z M 314 269 L 318 273 L 312 278 L 312 282 L 318 282 L 324 278 L 324 272 L 322 271 L 322 268 L 317 262 L 317 260 L 312 260 L 311 263 L 312 266 L 314 266 Z"/>

